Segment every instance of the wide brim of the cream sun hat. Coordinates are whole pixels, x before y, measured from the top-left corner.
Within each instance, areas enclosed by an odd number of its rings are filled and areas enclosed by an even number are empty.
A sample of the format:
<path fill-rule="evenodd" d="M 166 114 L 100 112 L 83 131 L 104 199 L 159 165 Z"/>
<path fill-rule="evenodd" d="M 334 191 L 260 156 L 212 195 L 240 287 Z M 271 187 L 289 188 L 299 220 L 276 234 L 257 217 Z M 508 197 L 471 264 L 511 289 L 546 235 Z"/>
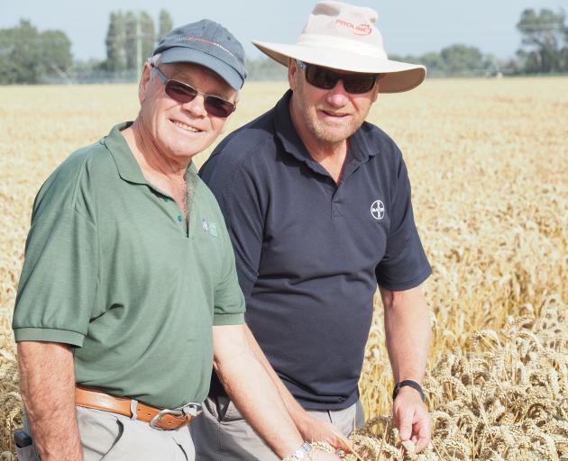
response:
<path fill-rule="evenodd" d="M 283 66 L 288 66 L 288 59 L 292 58 L 325 68 L 365 74 L 384 74 L 380 78 L 380 93 L 408 91 L 416 88 L 426 78 L 426 68 L 419 64 L 362 55 L 354 51 L 347 52 L 269 41 L 252 41 L 252 44 Z"/>

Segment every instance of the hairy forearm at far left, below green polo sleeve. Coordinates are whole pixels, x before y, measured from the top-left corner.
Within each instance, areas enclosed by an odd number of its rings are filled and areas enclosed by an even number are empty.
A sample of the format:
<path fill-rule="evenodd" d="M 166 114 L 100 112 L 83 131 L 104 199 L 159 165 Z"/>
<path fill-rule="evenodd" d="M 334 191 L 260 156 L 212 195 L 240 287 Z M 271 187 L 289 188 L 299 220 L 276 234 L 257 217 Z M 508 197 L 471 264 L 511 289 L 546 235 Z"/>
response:
<path fill-rule="evenodd" d="M 20 392 L 42 461 L 83 459 L 75 412 L 75 373 L 69 346 L 18 343 Z"/>

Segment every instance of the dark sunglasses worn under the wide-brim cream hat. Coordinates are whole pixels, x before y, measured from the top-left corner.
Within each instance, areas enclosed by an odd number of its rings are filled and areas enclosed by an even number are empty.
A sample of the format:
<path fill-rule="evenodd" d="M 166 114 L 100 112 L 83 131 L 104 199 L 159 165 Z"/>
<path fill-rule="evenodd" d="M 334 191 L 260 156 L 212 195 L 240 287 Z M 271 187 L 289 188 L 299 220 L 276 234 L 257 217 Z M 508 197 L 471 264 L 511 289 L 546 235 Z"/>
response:
<path fill-rule="evenodd" d="M 300 60 L 296 62 L 304 71 L 307 83 L 324 90 L 331 90 L 341 80 L 347 93 L 361 95 L 371 91 L 379 77 L 379 74 L 339 74 L 329 68 L 320 68 Z"/>

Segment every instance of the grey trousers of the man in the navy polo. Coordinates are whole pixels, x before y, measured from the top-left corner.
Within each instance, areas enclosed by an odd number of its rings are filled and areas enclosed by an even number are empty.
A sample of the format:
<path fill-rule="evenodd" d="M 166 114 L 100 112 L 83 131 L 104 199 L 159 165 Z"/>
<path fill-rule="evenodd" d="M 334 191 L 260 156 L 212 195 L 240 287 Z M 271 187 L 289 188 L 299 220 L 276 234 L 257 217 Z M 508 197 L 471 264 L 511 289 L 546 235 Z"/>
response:
<path fill-rule="evenodd" d="M 364 423 L 360 402 L 345 410 L 309 410 L 307 413 L 331 422 L 345 437 Z M 279 461 L 228 397 L 208 397 L 203 414 L 189 426 L 198 461 Z"/>

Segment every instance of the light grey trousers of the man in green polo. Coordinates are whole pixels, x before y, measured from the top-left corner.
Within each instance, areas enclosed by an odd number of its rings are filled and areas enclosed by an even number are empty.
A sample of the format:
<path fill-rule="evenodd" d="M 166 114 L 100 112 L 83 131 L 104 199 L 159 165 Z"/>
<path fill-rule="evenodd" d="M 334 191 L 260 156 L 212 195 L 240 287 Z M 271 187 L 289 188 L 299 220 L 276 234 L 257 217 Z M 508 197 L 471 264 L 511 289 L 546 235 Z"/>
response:
<path fill-rule="evenodd" d="M 77 419 L 85 461 L 195 461 L 186 427 L 157 430 L 144 421 L 82 407 L 77 407 Z M 25 417 L 24 430 L 31 433 Z M 17 454 L 19 461 L 39 460 L 33 446 L 19 449 Z"/>

